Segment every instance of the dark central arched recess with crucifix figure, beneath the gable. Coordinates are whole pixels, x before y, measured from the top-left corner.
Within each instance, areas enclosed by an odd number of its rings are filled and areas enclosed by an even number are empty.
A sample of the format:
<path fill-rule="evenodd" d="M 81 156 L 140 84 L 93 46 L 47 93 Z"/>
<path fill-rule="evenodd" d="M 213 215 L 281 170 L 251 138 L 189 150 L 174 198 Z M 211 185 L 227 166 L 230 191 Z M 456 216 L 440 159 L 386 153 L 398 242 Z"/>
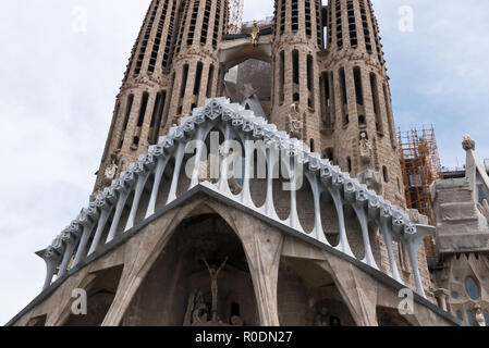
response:
<path fill-rule="evenodd" d="M 180 223 L 121 322 L 162 326 L 258 324 L 242 243 L 213 213 Z"/>

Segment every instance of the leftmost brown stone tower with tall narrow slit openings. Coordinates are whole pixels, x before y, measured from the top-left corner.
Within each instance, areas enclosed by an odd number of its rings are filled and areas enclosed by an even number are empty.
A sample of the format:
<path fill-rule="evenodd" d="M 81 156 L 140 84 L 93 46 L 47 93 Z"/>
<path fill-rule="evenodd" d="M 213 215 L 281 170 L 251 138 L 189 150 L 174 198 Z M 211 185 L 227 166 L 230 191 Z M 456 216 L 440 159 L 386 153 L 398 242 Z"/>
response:
<path fill-rule="evenodd" d="M 181 0 L 152 0 L 134 44 L 115 100 L 94 191 L 156 144 L 166 123 L 169 73 Z"/>

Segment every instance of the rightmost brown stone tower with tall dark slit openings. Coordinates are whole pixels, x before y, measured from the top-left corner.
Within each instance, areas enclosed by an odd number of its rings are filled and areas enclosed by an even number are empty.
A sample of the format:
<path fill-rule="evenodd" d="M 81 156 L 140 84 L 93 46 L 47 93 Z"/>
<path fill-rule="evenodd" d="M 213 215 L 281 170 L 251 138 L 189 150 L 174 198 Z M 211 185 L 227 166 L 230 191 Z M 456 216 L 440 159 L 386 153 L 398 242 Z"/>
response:
<path fill-rule="evenodd" d="M 389 77 L 371 2 L 331 0 L 325 10 L 323 154 L 404 207 Z"/>

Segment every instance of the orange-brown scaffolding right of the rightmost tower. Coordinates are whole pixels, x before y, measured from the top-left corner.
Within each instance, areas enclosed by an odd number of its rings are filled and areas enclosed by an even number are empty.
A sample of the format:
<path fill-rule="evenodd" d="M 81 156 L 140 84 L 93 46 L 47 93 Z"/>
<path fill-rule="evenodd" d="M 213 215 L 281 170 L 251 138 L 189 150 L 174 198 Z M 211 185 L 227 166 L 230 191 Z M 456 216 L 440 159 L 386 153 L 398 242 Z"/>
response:
<path fill-rule="evenodd" d="M 417 209 L 435 224 L 430 185 L 442 179 L 440 157 L 432 125 L 398 132 L 399 154 L 408 209 Z M 425 239 L 427 257 L 436 257 L 435 237 Z"/>

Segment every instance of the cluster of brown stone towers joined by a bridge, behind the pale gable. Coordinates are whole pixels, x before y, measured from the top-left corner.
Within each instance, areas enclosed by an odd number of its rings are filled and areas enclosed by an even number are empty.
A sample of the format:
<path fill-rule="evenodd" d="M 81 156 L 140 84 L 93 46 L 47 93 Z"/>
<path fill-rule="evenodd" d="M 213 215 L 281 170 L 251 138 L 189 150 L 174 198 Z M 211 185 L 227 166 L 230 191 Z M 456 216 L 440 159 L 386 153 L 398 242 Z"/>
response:
<path fill-rule="evenodd" d="M 274 14 L 258 28 L 254 51 L 242 42 L 252 34 L 228 35 L 227 0 L 151 1 L 94 191 L 206 98 L 227 95 L 231 55 L 270 64 L 270 122 L 404 208 L 389 77 L 370 1 L 277 0 Z"/>

